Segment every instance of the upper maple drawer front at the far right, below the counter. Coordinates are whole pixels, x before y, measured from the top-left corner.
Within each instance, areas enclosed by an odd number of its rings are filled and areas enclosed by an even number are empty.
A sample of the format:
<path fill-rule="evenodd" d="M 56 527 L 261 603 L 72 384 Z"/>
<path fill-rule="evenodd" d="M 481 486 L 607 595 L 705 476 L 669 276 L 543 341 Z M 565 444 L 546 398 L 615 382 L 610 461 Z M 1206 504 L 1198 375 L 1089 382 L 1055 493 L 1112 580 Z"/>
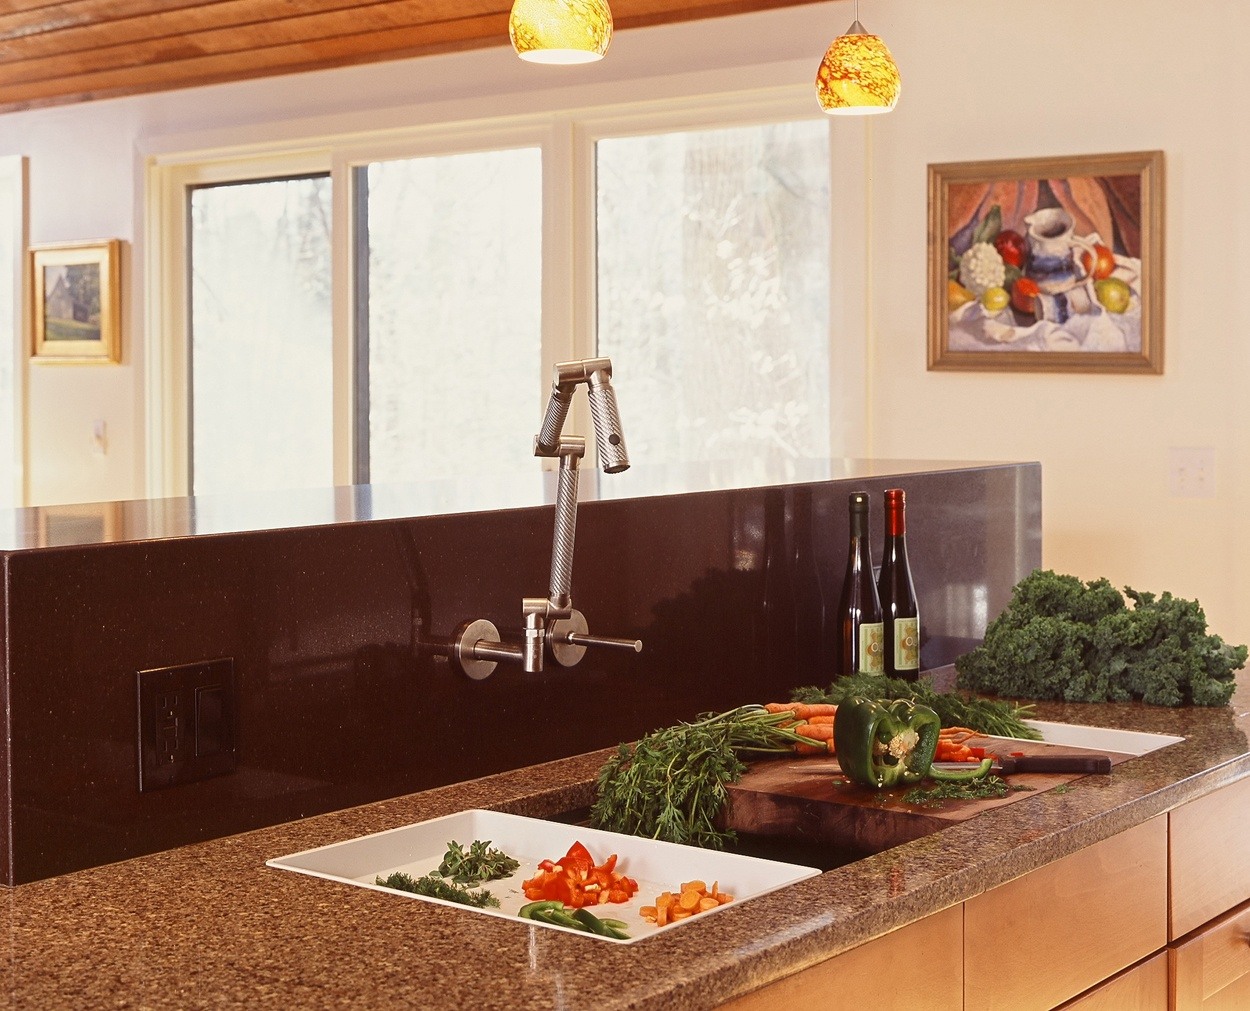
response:
<path fill-rule="evenodd" d="M 1169 816 L 1171 940 L 1250 900 L 1250 779 L 1190 801 Z"/>

